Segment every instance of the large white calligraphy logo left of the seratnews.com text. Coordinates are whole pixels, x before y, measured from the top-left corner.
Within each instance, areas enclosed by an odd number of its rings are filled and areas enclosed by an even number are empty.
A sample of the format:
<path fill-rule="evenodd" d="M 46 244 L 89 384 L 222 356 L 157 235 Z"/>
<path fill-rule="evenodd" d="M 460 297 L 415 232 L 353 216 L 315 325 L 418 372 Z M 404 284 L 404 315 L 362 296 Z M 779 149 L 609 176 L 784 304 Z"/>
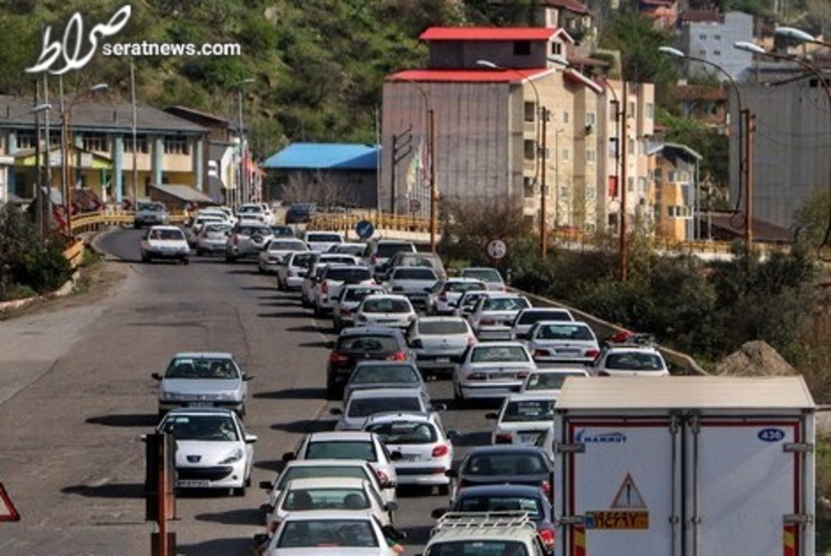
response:
<path fill-rule="evenodd" d="M 70 70 L 80 70 L 83 66 L 91 60 L 98 50 L 98 40 L 103 37 L 111 37 L 119 32 L 127 22 L 130 20 L 130 13 L 132 8 L 122 6 L 112 15 L 110 21 L 106 23 L 99 23 L 92 27 L 87 40 L 90 43 L 90 48 L 85 55 L 81 57 L 81 47 L 84 42 L 84 20 L 81 17 L 81 12 L 75 12 L 70 17 L 69 22 L 66 23 L 66 29 L 63 32 L 63 42 L 54 41 L 52 38 L 52 26 L 46 28 L 43 32 L 43 45 L 41 47 L 41 56 L 37 58 L 37 63 L 32 67 L 27 67 L 27 73 L 38 73 L 40 71 L 49 71 L 52 75 L 60 76 Z M 52 69 L 52 65 L 57 62 L 58 57 L 63 57 L 64 66 L 59 69 Z"/>

